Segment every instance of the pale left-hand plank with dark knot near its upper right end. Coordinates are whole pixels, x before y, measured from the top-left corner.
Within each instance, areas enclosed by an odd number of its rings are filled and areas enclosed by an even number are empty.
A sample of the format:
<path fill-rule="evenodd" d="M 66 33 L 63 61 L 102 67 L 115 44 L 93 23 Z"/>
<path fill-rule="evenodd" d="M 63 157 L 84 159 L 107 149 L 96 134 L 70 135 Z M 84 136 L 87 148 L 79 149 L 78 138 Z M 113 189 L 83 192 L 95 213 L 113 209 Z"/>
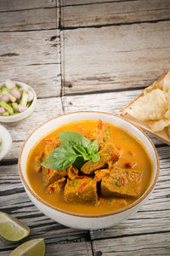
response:
<path fill-rule="evenodd" d="M 2 32 L 0 60 L 1 66 L 59 63 L 59 30 Z"/>

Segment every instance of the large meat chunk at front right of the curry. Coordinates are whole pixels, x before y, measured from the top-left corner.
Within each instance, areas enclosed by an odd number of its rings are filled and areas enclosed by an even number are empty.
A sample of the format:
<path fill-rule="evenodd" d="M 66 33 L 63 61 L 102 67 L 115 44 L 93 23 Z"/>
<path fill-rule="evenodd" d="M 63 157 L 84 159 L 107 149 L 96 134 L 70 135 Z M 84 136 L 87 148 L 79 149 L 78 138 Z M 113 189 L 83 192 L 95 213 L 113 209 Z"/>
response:
<path fill-rule="evenodd" d="M 101 195 L 104 197 L 140 195 L 139 172 L 128 172 L 117 167 L 111 170 L 110 176 L 104 177 L 101 182 Z"/>

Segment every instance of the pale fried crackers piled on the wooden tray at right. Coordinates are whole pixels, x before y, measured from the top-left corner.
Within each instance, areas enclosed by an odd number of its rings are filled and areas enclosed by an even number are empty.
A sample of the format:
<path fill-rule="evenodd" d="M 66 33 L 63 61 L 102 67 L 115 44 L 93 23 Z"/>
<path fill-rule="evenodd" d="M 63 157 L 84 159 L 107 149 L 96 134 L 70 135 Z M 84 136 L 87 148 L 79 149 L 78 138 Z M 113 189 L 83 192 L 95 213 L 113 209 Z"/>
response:
<path fill-rule="evenodd" d="M 170 72 L 145 88 L 141 96 L 122 109 L 121 115 L 133 122 L 139 120 L 136 123 L 145 124 L 147 131 L 164 131 L 170 137 Z"/>

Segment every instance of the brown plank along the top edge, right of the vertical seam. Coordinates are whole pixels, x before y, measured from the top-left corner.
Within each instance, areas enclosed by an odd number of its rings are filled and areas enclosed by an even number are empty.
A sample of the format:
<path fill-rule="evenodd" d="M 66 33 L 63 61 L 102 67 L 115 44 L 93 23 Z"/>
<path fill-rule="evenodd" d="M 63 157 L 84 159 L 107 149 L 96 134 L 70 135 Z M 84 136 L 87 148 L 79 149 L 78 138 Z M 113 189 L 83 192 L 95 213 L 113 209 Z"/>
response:
<path fill-rule="evenodd" d="M 62 1 L 61 22 L 63 27 L 108 26 L 170 19 L 170 2 L 168 0 L 150 1 Z M 84 2 L 84 3 L 82 3 Z M 88 2 L 88 3 L 87 3 Z"/>

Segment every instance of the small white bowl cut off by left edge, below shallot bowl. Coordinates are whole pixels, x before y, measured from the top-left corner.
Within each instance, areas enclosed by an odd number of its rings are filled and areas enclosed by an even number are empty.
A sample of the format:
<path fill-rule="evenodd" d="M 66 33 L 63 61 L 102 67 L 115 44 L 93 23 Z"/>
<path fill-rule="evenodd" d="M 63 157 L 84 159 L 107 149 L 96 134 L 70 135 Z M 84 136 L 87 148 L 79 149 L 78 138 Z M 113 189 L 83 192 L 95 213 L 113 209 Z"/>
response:
<path fill-rule="evenodd" d="M 12 138 L 3 125 L 0 125 L 0 138 L 2 139 L 2 144 L 0 146 L 0 160 L 3 160 L 12 144 Z"/>

